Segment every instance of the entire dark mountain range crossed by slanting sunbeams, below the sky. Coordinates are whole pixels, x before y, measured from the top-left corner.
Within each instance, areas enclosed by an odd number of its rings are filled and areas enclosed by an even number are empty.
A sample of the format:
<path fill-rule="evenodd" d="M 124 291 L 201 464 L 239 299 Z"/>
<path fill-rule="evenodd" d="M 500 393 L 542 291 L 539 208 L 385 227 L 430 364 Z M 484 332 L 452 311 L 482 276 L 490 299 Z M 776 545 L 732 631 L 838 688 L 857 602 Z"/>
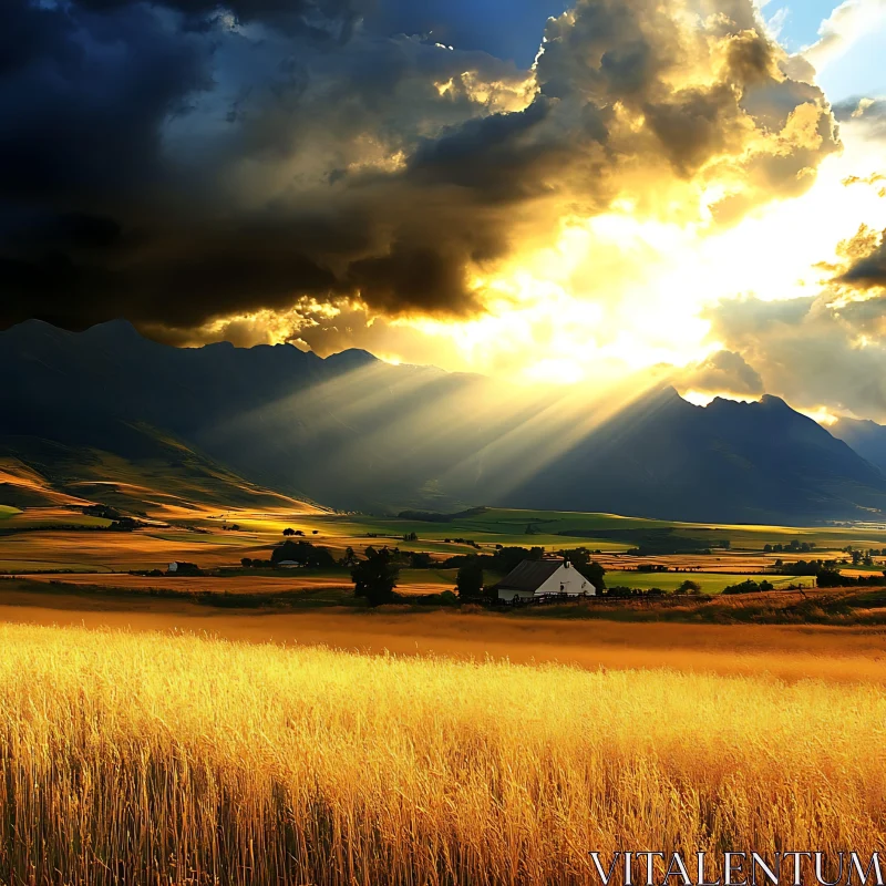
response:
<path fill-rule="evenodd" d="M 358 350 L 173 348 L 125 321 L 12 327 L 0 378 L 0 504 L 886 515 L 886 429 L 828 431 L 775 396 L 701 408 L 653 387 L 600 400 L 591 387 L 524 389 Z"/>

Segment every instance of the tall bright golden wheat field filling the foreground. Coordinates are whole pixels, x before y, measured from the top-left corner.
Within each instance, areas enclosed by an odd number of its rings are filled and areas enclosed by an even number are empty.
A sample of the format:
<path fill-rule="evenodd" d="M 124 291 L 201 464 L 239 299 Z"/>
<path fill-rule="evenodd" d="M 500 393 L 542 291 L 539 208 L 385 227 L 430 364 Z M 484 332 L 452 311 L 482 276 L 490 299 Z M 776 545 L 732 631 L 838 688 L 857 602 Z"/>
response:
<path fill-rule="evenodd" d="M 886 690 L 0 625 L 0 883 L 581 884 L 882 848 Z"/>

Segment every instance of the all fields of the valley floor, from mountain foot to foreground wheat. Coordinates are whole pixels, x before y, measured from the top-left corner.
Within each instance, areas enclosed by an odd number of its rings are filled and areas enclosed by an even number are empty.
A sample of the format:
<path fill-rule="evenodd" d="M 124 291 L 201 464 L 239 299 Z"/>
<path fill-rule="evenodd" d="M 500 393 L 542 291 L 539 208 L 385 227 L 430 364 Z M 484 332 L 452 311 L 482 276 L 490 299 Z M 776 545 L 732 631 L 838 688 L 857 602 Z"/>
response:
<path fill-rule="evenodd" d="M 632 536 L 553 532 L 618 517 L 482 516 L 114 532 L 0 514 L 0 571 L 19 574 L 0 577 L 0 884 L 584 886 L 595 849 L 886 843 L 885 589 L 719 594 L 812 530 L 710 528 L 733 549 L 643 557 Z M 337 559 L 389 544 L 433 560 L 374 610 L 344 566 L 241 565 L 292 525 Z M 815 537 L 832 556 L 886 547 L 879 529 Z M 713 596 L 416 596 L 452 589 L 447 557 L 504 544 L 586 544 L 610 587 L 691 577 Z M 204 574 L 167 575 L 173 559 Z"/>

